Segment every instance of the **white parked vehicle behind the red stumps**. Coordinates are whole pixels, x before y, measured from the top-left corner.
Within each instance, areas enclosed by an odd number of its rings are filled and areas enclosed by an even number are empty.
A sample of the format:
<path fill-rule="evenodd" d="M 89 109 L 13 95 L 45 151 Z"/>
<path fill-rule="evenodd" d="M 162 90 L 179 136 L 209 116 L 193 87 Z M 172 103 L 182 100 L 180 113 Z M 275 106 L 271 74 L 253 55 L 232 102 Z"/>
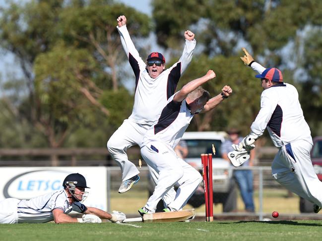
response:
<path fill-rule="evenodd" d="M 188 155 L 185 161 L 202 174 L 201 153 L 212 153 L 212 145 L 215 146 L 216 154 L 212 156 L 212 182 L 213 202 L 222 203 L 223 212 L 230 212 L 237 208 L 237 190 L 230 163 L 221 158 L 220 146 L 224 142 L 225 132 L 186 132 L 182 140 L 188 145 Z M 149 193 L 154 191 L 154 182 L 150 180 Z M 203 183 L 199 185 L 193 196 L 188 201 L 193 207 L 199 207 L 204 203 Z M 158 210 L 163 208 L 162 201 L 158 204 Z"/>

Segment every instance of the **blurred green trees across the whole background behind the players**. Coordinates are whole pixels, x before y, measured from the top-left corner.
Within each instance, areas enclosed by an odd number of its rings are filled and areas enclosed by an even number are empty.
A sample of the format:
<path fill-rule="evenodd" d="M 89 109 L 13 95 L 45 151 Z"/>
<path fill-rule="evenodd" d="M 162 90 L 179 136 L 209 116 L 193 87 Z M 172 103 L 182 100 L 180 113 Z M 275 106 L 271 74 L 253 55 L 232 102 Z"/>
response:
<path fill-rule="evenodd" d="M 133 103 L 124 80 L 134 77 L 124 68 L 129 63 L 116 28 L 123 14 L 140 53 L 146 53 L 154 28 L 157 43 L 172 57 L 169 66 L 180 56 L 183 32 L 195 33 L 193 62 L 178 89 L 208 69 L 217 75 L 204 85 L 212 96 L 225 84 L 233 88 L 214 111 L 193 118 L 189 130 L 234 126 L 249 132 L 261 88 L 239 59 L 246 47 L 296 86 L 313 135 L 322 135 L 322 1 L 154 0 L 151 5 L 152 18 L 113 0 L 9 1 L 1 8 L 0 47 L 15 55 L 23 76 L 1 83 L 0 145 L 105 145 Z M 88 133 L 95 140 L 85 140 Z"/>

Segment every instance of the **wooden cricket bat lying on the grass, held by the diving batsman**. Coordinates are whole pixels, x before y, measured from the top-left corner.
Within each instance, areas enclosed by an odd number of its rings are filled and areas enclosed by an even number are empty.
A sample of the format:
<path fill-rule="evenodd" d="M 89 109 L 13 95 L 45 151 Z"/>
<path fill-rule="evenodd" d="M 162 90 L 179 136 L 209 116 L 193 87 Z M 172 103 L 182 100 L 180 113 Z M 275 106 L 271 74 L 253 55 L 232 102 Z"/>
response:
<path fill-rule="evenodd" d="M 159 213 L 143 214 L 143 217 L 139 217 L 139 218 L 126 218 L 123 220 L 122 223 L 182 222 L 193 218 L 194 218 L 194 209 L 192 208 L 192 209 L 185 209 L 185 210 L 175 211 L 175 212 L 159 212 Z"/>

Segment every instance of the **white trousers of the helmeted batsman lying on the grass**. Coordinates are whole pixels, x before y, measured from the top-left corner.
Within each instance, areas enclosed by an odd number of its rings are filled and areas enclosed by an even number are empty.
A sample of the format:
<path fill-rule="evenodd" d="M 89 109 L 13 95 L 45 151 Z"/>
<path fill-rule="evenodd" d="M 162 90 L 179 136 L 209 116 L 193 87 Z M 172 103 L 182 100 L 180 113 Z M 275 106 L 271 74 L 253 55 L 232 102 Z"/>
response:
<path fill-rule="evenodd" d="M 0 201 L 0 224 L 18 223 L 18 203 L 19 199 L 6 198 Z"/>

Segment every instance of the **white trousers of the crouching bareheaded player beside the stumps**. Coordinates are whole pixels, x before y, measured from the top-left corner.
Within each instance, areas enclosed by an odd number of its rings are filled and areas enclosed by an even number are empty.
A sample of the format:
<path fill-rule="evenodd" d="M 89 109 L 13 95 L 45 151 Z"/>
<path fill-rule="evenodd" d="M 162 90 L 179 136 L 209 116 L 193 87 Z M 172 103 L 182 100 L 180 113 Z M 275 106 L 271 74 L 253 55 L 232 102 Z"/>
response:
<path fill-rule="evenodd" d="M 177 156 L 175 151 L 162 142 L 150 142 L 141 147 L 144 160 L 158 174 L 154 193 L 149 197 L 145 207 L 155 212 L 159 200 L 179 185 L 175 199 L 168 204 L 174 210 L 181 210 L 188 202 L 202 181 L 200 173 Z"/>

